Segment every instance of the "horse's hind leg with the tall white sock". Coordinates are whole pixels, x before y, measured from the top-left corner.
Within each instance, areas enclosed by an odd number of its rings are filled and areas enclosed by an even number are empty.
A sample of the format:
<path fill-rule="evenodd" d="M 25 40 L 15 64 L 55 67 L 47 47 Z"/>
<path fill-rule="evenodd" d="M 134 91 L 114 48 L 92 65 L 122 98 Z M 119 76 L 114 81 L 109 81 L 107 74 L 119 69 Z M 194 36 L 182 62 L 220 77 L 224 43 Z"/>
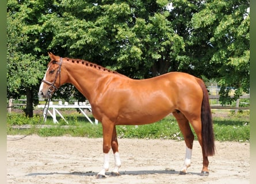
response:
<path fill-rule="evenodd" d="M 176 110 L 175 112 L 173 112 L 173 116 L 178 121 L 179 129 L 181 129 L 182 135 L 184 136 L 184 140 L 186 143 L 186 155 L 184 160 L 184 167 L 182 168 L 181 171 L 179 171 L 179 174 L 187 174 L 188 167 L 190 166 L 191 158 L 192 158 L 194 135 L 189 126 L 189 121 L 184 116 L 184 114 Z"/>

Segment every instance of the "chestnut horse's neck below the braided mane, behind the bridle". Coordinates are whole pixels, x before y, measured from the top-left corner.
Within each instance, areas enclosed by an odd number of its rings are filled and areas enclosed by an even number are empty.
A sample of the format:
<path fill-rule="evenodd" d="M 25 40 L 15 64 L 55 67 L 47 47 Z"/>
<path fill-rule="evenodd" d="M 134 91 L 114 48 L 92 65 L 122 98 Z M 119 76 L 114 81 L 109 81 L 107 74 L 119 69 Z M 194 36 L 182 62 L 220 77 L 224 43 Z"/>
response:
<path fill-rule="evenodd" d="M 65 62 L 67 69 L 67 83 L 72 83 L 89 101 L 94 98 L 95 89 L 107 72 L 98 70 L 81 63 Z"/>

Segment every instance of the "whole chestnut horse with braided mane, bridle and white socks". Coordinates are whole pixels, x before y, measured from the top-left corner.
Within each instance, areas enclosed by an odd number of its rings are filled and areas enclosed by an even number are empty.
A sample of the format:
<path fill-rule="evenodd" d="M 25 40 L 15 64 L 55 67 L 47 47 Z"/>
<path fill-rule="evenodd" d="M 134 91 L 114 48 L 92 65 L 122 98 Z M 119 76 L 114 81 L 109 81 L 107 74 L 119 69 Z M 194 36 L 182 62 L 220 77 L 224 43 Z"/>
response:
<path fill-rule="evenodd" d="M 169 72 L 150 79 L 131 79 L 81 59 L 48 53 L 51 62 L 39 89 L 43 98 L 64 83 L 74 85 L 90 102 L 93 116 L 103 129 L 104 164 L 97 178 L 105 178 L 109 169 L 110 148 L 114 154 L 112 175 L 121 166 L 116 125 L 151 124 L 173 113 L 186 144 L 185 162 L 180 174 L 186 174 L 192 157 L 194 135 L 202 148 L 202 171 L 209 175 L 208 156 L 215 154 L 212 114 L 204 82 L 183 72 Z"/>

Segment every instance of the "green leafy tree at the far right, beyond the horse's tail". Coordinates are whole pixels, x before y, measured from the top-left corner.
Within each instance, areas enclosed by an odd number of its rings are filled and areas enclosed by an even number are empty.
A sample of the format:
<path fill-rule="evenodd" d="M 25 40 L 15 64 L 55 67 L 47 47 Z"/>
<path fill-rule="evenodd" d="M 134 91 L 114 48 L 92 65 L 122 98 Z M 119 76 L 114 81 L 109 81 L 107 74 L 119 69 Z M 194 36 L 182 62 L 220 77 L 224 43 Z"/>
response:
<path fill-rule="evenodd" d="M 202 48 L 193 52 L 193 58 L 204 63 L 210 76 L 217 78 L 221 86 L 220 100 L 231 104 L 244 92 L 249 93 L 250 49 L 249 0 L 205 1 L 203 8 L 193 15 L 190 48 Z M 207 75 L 204 72 L 204 75 Z M 208 76 L 208 75 L 207 75 Z M 208 76 L 209 77 L 209 76 Z M 234 98 L 228 93 L 235 87 Z"/>

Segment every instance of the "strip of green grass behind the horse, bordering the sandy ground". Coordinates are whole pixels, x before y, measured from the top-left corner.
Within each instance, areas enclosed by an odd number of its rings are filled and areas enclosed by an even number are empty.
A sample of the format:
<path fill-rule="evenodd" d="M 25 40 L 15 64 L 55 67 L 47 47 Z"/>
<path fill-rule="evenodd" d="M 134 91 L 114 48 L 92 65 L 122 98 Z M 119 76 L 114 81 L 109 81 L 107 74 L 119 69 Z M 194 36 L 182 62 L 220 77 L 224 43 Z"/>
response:
<path fill-rule="evenodd" d="M 27 118 L 24 114 L 20 113 L 8 114 L 7 134 L 102 137 L 102 126 L 100 123 L 99 125 L 90 124 L 90 122 L 86 121 L 85 117 L 77 112 L 68 114 L 65 118 L 68 120 L 68 126 L 62 119 L 59 119 L 58 124 L 54 124 L 51 118 L 48 118 L 43 123 L 41 116 Z M 30 125 L 31 128 L 14 128 L 15 125 Z M 51 126 L 39 127 L 39 125 Z M 227 117 L 214 117 L 213 129 L 215 139 L 218 141 L 250 141 L 249 114 L 240 112 L 238 114 L 229 113 Z M 117 135 L 119 138 L 184 140 L 177 121 L 173 116 L 167 116 L 154 124 L 139 126 L 119 125 L 117 126 Z"/>

